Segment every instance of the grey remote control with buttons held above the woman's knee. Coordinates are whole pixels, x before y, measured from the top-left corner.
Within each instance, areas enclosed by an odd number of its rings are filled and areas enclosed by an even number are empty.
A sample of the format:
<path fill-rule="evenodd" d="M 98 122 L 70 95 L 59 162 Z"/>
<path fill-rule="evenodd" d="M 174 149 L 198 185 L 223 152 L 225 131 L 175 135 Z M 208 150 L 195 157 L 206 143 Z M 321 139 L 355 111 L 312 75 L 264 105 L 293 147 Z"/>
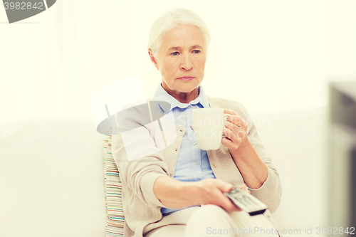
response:
<path fill-rule="evenodd" d="M 246 191 L 235 187 L 229 193 L 225 193 L 227 197 L 236 205 L 239 206 L 243 211 L 246 211 L 250 216 L 255 216 L 258 214 L 263 214 L 268 208 L 266 204 L 262 201 L 256 199 L 256 197 L 251 194 L 246 193 Z"/>

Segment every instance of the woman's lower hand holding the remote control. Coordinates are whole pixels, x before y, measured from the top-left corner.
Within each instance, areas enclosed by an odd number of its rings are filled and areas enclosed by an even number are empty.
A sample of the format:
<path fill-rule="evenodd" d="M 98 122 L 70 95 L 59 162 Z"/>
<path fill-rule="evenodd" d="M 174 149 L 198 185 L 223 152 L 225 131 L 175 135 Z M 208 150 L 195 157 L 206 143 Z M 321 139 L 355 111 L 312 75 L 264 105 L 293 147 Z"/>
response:
<path fill-rule="evenodd" d="M 246 184 L 242 184 L 239 188 L 251 194 Z M 234 189 L 233 184 L 226 183 L 219 179 L 204 179 L 202 181 L 189 182 L 187 191 L 189 193 L 188 195 L 192 195 L 192 198 L 195 199 L 196 205 L 214 204 L 228 212 L 241 211 L 241 209 L 233 204 L 224 194 L 232 189 Z"/>

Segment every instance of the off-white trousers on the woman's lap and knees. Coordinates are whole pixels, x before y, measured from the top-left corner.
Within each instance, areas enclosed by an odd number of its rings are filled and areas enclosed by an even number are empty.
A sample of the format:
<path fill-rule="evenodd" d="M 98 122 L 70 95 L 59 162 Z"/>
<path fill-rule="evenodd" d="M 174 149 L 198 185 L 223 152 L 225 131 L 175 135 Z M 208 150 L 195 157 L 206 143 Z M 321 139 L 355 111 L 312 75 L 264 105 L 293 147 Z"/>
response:
<path fill-rule="evenodd" d="M 216 205 L 190 206 L 164 216 L 143 231 L 144 237 L 278 237 L 276 226 L 266 216 L 244 211 L 226 212 Z"/>

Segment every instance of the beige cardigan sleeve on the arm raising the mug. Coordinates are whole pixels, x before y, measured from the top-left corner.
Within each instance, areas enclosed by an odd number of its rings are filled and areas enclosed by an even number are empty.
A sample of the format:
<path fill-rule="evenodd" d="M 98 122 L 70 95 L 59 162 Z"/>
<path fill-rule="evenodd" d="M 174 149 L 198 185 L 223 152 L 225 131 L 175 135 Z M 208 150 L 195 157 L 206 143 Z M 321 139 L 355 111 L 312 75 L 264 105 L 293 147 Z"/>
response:
<path fill-rule="evenodd" d="M 256 150 L 258 156 L 266 164 L 268 169 L 268 177 L 266 181 L 258 189 L 250 189 L 251 194 L 256 196 L 264 204 L 268 206 L 268 209 L 271 213 L 275 212 L 278 209 L 279 204 L 281 203 L 282 196 L 282 184 L 281 179 L 278 174 L 278 170 L 275 165 L 272 164 L 271 157 L 266 154 L 265 147 L 262 144 L 261 137 L 258 134 L 255 123 L 251 120 L 251 117 L 246 110 L 244 105 L 241 105 L 245 115 L 247 116 L 247 123 L 250 130 L 248 132 L 248 139 Z"/>

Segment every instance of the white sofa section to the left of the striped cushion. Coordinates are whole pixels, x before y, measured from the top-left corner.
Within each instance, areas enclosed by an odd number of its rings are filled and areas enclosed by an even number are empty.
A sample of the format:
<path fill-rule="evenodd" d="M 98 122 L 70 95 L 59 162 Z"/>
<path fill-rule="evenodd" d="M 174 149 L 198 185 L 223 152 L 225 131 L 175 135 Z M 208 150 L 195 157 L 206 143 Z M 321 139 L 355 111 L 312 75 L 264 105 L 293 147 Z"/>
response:
<path fill-rule="evenodd" d="M 0 125 L 0 236 L 105 236 L 103 135 L 93 120 Z"/>

